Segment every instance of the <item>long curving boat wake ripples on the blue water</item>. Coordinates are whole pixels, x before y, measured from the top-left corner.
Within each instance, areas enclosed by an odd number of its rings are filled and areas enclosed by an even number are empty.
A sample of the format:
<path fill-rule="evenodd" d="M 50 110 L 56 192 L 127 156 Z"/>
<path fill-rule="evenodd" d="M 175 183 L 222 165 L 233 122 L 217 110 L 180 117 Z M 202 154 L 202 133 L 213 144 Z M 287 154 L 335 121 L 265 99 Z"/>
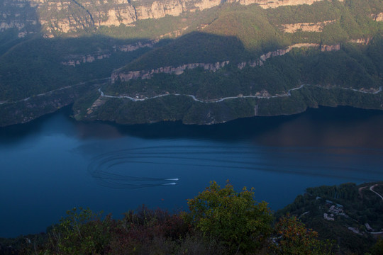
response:
<path fill-rule="evenodd" d="M 177 173 L 181 169 L 191 173 L 199 169 L 265 171 L 355 181 L 370 181 L 370 176 L 382 174 L 379 169 L 345 164 L 353 160 L 355 153 L 363 154 L 357 148 L 331 147 L 137 147 L 100 154 L 91 160 L 88 171 L 102 186 L 110 188 L 177 185 L 179 178 L 158 176 L 171 172 L 169 169 Z"/>

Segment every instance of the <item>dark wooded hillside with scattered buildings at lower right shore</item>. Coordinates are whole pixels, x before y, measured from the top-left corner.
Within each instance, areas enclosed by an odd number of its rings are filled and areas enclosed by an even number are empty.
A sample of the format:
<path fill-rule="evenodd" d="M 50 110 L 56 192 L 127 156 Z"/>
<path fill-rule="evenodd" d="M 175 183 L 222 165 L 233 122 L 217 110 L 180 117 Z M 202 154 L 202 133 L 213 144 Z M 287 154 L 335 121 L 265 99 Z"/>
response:
<path fill-rule="evenodd" d="M 382 183 L 375 184 L 308 188 L 294 203 L 277 212 L 277 217 L 290 212 L 322 238 L 337 240 L 342 254 L 365 254 L 383 229 L 383 200 L 370 191 L 371 187 L 382 191 Z"/>

